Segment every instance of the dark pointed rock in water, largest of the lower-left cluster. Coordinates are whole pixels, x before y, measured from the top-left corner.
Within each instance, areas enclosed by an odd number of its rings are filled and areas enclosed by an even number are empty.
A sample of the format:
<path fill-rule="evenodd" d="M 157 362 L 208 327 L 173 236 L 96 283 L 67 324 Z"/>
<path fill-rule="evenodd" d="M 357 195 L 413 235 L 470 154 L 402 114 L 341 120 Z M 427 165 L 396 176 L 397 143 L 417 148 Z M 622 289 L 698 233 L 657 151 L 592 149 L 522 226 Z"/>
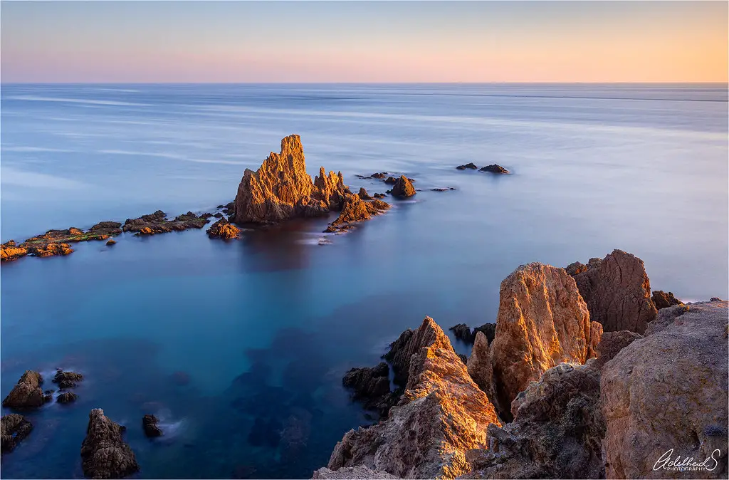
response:
<path fill-rule="evenodd" d="M 84 475 L 91 479 L 120 479 L 139 471 L 134 452 L 122 440 L 125 427 L 93 409 L 81 444 Z"/>

